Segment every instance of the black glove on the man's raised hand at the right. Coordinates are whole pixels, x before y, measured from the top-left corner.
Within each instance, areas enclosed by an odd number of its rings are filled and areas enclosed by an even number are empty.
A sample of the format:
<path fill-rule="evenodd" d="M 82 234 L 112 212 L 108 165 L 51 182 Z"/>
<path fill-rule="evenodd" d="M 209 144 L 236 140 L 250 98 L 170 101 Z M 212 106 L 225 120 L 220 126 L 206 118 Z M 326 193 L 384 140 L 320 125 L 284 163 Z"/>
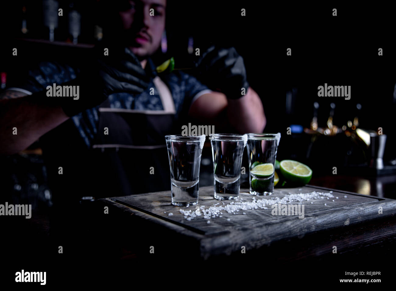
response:
<path fill-rule="evenodd" d="M 198 62 L 197 78 L 211 90 L 219 90 L 229 99 L 242 97 L 249 84 L 246 80 L 244 60 L 234 48 L 215 48 L 211 46 Z"/>

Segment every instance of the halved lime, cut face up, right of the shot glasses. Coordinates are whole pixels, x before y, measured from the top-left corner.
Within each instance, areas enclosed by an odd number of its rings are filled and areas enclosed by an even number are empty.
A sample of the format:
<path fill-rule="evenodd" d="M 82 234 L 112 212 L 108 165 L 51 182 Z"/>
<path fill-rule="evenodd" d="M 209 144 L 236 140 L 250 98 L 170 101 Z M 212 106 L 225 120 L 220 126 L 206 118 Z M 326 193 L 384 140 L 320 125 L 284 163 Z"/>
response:
<path fill-rule="evenodd" d="M 312 170 L 307 165 L 293 160 L 280 162 L 280 171 L 287 181 L 305 185 L 312 178 Z"/>

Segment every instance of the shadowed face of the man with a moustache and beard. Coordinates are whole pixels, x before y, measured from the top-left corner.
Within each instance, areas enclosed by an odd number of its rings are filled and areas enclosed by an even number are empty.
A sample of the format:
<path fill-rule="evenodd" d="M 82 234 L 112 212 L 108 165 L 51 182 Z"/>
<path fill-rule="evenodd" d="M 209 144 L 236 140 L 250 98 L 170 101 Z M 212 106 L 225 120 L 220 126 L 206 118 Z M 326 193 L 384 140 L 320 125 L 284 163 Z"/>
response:
<path fill-rule="evenodd" d="M 126 0 L 125 4 L 123 11 L 118 12 L 122 35 L 127 38 L 124 41 L 138 57 L 152 55 L 159 48 L 165 29 L 166 0 Z M 150 10 L 154 16 L 150 16 Z"/>

